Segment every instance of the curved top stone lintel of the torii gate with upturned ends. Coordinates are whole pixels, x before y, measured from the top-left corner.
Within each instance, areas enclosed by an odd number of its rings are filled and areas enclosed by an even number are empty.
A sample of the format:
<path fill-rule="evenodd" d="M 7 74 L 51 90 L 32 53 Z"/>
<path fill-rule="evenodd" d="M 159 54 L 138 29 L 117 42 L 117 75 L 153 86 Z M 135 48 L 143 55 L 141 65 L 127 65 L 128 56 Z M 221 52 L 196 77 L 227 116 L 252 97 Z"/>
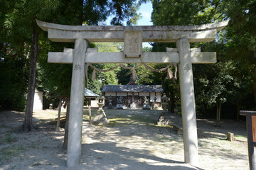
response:
<path fill-rule="evenodd" d="M 142 32 L 143 42 L 176 42 L 187 38 L 189 42 L 215 40 L 217 32 L 228 25 L 228 21 L 200 26 L 66 26 L 36 20 L 48 38 L 55 42 L 75 42 L 83 38 L 89 42 L 124 42 L 124 31 Z"/>

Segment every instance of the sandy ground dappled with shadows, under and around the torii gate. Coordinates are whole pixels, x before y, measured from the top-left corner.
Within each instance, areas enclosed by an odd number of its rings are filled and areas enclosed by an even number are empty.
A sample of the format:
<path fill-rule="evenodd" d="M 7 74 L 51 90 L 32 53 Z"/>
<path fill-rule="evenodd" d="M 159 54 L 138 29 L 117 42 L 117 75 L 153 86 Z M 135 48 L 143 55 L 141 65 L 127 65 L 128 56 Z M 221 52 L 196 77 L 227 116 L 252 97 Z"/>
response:
<path fill-rule="evenodd" d="M 75 169 L 249 169 L 244 122 L 225 121 L 215 128 L 213 121 L 199 119 L 200 162 L 194 167 L 183 164 L 182 135 L 155 125 L 161 111 L 106 113 L 111 123 L 105 127 L 88 127 L 84 121 L 81 165 Z M 20 134 L 14 130 L 21 125 L 23 113 L 1 112 L 0 170 L 67 169 L 64 132 L 55 132 L 46 124 L 56 114 L 35 113 L 39 131 Z M 226 141 L 227 132 L 234 132 L 237 141 Z"/>

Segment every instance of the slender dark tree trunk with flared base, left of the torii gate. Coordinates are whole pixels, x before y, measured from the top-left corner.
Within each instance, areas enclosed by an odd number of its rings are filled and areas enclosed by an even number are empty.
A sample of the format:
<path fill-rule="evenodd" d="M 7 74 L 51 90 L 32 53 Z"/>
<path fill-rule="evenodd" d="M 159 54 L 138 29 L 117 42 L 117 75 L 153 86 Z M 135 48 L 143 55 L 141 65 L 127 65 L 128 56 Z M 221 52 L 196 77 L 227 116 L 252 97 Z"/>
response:
<path fill-rule="evenodd" d="M 36 62 L 38 59 L 38 54 L 40 47 L 38 45 L 38 32 L 33 29 L 31 38 L 31 57 L 29 65 L 29 76 L 28 76 L 28 96 L 26 101 L 26 112 L 25 120 L 19 130 L 22 132 L 36 131 L 32 123 L 33 116 L 33 99 L 36 89 Z"/>

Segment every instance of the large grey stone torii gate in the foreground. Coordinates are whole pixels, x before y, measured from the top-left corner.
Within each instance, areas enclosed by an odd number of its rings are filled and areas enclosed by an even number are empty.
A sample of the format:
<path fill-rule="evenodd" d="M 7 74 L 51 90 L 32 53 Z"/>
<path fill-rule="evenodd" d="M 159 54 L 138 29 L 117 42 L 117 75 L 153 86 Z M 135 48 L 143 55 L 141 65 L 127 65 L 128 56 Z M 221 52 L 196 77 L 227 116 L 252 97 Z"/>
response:
<path fill-rule="evenodd" d="M 54 42 L 75 42 L 74 49 L 49 52 L 48 62 L 73 63 L 67 166 L 80 164 L 85 63 L 178 63 L 185 162 L 198 164 L 198 137 L 192 63 L 215 63 L 215 52 L 191 49 L 190 42 L 210 42 L 228 21 L 201 26 L 65 26 L 36 21 Z M 88 42 L 124 42 L 124 52 L 97 52 Z M 142 42 L 176 42 L 177 49 L 142 52 Z"/>

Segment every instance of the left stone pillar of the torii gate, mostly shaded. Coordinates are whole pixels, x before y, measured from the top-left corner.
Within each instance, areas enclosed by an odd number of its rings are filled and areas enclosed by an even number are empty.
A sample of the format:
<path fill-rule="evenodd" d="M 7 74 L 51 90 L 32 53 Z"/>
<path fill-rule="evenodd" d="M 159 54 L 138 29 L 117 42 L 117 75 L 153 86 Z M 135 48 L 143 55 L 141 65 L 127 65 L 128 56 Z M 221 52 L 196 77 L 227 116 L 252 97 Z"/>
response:
<path fill-rule="evenodd" d="M 68 123 L 68 167 L 80 164 L 82 149 L 82 106 L 85 91 L 86 51 L 87 40 L 76 39 L 73 54 L 73 71 L 70 94 L 70 116 Z"/>

